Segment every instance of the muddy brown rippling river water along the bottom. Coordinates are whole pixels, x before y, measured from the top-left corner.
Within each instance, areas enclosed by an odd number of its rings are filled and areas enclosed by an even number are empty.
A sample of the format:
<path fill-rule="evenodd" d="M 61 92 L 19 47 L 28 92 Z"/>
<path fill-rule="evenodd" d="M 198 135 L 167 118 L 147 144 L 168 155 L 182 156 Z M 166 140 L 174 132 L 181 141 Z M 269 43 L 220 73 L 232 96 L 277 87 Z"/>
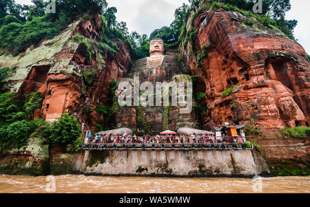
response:
<path fill-rule="evenodd" d="M 51 188 L 54 183 L 55 188 Z M 254 186 L 254 184 L 256 184 Z M 0 193 L 310 193 L 309 177 L 159 178 L 0 175 Z M 254 191 L 255 190 L 255 191 Z"/>

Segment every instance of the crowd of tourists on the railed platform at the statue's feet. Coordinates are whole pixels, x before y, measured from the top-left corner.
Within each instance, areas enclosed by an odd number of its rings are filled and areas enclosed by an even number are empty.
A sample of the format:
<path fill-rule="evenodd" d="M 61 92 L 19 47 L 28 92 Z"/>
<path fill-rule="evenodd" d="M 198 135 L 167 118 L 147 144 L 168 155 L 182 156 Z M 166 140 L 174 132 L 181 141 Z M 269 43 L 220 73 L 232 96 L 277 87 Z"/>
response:
<path fill-rule="evenodd" d="M 149 135 L 143 135 L 143 136 L 136 136 L 136 135 L 96 135 L 95 138 L 86 138 L 86 142 L 92 143 L 92 144 L 207 144 L 207 143 L 243 143 L 246 142 L 245 138 L 242 137 L 235 137 L 235 138 L 229 138 L 229 137 L 220 137 L 217 138 L 215 136 L 207 136 L 207 135 L 180 135 L 180 136 L 174 136 L 174 135 L 156 135 L 156 136 L 149 136 Z"/>

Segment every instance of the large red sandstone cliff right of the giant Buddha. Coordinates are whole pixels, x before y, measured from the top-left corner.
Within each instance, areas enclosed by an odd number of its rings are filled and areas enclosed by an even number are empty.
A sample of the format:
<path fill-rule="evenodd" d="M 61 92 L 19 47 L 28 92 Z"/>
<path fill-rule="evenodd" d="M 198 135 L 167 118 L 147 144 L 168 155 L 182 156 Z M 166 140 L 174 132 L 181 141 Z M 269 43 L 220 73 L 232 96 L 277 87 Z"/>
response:
<path fill-rule="evenodd" d="M 267 160 L 291 158 L 290 153 L 279 156 L 278 149 L 270 147 L 282 143 L 281 151 L 293 150 L 295 160 L 309 163 L 307 142 L 296 139 L 288 144 L 276 138 L 276 131 L 284 127 L 310 123 L 309 61 L 302 46 L 278 29 L 266 28 L 238 12 L 205 9 L 193 17 L 187 30 L 192 21 L 196 39 L 184 45 L 183 55 L 192 72 L 200 75 L 200 90 L 205 91 L 203 102 L 208 108 L 205 123 L 249 125 L 254 118 Z M 246 19 L 254 25 L 242 23 Z M 205 58 L 199 61 L 190 51 L 204 53 Z M 231 94 L 222 96 L 229 88 Z"/>

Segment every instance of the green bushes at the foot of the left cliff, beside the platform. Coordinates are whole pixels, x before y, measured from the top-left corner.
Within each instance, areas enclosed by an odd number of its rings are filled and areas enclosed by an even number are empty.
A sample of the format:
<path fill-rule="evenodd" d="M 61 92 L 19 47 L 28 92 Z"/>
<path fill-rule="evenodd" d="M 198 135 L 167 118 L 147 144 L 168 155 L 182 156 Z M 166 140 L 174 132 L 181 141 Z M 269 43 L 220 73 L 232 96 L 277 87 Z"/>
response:
<path fill-rule="evenodd" d="M 43 96 L 32 92 L 25 96 L 0 94 L 0 151 L 20 148 L 28 138 L 41 138 L 50 144 L 70 143 L 81 135 L 81 127 L 73 116 L 64 114 L 49 124 L 33 120 L 34 110 L 41 109 Z"/>

